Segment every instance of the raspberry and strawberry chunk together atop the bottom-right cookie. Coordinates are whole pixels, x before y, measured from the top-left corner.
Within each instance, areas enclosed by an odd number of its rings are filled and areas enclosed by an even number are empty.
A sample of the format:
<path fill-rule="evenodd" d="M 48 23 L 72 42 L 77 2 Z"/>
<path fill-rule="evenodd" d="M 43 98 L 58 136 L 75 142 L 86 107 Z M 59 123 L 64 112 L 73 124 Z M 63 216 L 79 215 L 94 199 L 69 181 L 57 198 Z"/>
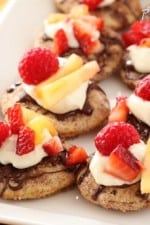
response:
<path fill-rule="evenodd" d="M 104 172 L 124 181 L 132 182 L 142 171 L 142 163 L 129 151 L 140 143 L 140 135 L 130 124 L 111 123 L 95 137 L 95 146 L 108 157 Z"/>

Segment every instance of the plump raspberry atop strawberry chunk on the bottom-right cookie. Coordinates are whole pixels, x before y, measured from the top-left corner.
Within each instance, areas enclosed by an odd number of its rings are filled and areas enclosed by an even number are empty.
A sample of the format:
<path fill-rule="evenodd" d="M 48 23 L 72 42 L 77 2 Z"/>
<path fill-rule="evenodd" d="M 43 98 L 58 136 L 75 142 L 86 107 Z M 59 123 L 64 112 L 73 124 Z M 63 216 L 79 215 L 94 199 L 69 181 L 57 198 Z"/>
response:
<path fill-rule="evenodd" d="M 95 137 L 95 146 L 103 155 L 110 153 L 121 144 L 124 148 L 138 143 L 140 135 L 130 124 L 124 122 L 112 123 L 105 126 Z"/>

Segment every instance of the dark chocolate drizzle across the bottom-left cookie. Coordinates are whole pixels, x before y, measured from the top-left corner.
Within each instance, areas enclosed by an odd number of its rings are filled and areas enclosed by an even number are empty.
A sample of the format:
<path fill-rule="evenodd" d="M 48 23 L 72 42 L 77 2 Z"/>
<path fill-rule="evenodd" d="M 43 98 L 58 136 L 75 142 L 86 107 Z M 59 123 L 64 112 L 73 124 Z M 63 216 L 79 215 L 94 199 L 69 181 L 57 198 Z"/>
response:
<path fill-rule="evenodd" d="M 66 167 L 65 159 L 66 151 L 64 150 L 55 157 L 45 157 L 39 164 L 25 169 L 17 169 L 10 164 L 0 164 L 0 196 L 7 188 L 13 191 L 20 190 L 28 180 L 39 178 L 45 174 L 62 171 L 73 172 L 76 167 Z M 58 168 L 54 166 L 58 166 Z"/>

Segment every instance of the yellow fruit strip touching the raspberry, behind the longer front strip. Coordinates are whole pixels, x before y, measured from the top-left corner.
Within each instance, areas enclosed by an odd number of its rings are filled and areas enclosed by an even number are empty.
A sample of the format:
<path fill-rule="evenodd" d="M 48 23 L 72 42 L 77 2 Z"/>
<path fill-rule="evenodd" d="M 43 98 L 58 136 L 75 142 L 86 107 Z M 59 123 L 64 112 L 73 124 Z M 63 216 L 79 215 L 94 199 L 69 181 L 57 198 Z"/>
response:
<path fill-rule="evenodd" d="M 55 80 L 60 79 L 61 77 L 64 77 L 73 71 L 79 69 L 83 65 L 83 59 L 76 55 L 72 54 L 67 58 L 67 61 L 65 62 L 64 66 L 62 66 L 53 76 L 51 76 L 46 81 L 41 82 L 39 85 L 35 87 L 35 90 L 40 89 L 46 84 L 49 84 L 50 82 L 53 82 Z"/>

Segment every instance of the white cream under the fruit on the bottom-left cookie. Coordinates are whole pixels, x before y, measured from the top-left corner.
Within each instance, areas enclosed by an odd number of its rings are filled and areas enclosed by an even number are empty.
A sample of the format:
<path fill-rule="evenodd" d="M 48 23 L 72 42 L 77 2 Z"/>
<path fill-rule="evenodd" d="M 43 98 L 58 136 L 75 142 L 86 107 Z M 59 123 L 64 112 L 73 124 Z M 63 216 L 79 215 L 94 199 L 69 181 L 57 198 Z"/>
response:
<path fill-rule="evenodd" d="M 44 157 L 47 156 L 47 153 L 42 148 L 42 145 L 51 138 L 51 135 L 47 129 L 43 132 L 45 135 L 44 141 L 41 144 L 36 145 L 33 151 L 24 155 L 16 154 L 17 135 L 8 137 L 2 143 L 0 148 L 0 163 L 3 165 L 10 163 L 13 167 L 18 169 L 24 169 L 38 164 Z"/>

